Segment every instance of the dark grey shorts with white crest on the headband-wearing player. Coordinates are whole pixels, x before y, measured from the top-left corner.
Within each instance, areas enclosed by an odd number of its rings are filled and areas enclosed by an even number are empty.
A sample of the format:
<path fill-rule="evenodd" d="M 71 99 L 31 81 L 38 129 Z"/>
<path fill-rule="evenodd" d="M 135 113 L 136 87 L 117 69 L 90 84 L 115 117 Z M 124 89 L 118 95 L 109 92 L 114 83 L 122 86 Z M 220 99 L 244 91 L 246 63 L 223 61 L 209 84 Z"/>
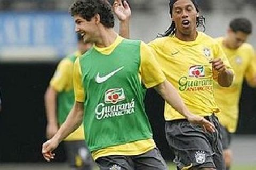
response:
<path fill-rule="evenodd" d="M 177 169 L 191 167 L 225 169 L 219 121 L 215 115 L 205 118 L 215 125 L 217 131 L 205 132 L 201 126 L 191 124 L 187 120 L 166 122 L 166 138 L 174 151 L 174 163 Z"/>

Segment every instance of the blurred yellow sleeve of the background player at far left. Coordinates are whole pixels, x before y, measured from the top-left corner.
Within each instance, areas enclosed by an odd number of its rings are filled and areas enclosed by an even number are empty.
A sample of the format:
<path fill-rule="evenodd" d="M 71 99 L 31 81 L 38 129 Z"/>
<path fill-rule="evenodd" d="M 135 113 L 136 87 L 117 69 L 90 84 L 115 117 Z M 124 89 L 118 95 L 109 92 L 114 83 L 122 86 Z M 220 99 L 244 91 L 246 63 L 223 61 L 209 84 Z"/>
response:
<path fill-rule="evenodd" d="M 68 59 L 63 59 L 58 64 L 58 67 L 50 81 L 50 86 L 54 90 L 61 92 L 72 88 L 73 63 Z"/>

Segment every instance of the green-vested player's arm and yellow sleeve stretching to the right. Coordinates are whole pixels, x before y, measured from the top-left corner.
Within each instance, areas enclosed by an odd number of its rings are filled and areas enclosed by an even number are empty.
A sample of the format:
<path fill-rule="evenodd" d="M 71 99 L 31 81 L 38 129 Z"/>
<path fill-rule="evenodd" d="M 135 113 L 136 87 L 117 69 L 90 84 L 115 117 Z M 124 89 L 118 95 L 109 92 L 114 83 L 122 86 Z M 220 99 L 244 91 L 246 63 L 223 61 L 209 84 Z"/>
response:
<path fill-rule="evenodd" d="M 210 132 L 214 131 L 214 125 L 211 122 L 205 120 L 203 117 L 192 114 L 188 110 L 178 91 L 166 80 L 161 67 L 145 43 L 141 43 L 140 74 L 142 82 L 147 88 L 153 87 L 169 105 L 186 117 L 189 122 L 202 125 Z"/>

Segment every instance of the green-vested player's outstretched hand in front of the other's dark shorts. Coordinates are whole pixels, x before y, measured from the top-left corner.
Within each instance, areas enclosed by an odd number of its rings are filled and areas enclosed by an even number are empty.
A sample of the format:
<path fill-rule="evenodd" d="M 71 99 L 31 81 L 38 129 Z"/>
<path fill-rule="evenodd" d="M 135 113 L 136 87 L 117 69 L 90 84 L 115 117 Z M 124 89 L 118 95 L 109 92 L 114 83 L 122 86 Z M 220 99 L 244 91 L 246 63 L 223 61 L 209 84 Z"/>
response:
<path fill-rule="evenodd" d="M 215 132 L 214 124 L 212 124 L 210 121 L 206 120 L 203 117 L 192 114 L 187 119 L 190 123 L 200 125 L 205 132 Z"/>

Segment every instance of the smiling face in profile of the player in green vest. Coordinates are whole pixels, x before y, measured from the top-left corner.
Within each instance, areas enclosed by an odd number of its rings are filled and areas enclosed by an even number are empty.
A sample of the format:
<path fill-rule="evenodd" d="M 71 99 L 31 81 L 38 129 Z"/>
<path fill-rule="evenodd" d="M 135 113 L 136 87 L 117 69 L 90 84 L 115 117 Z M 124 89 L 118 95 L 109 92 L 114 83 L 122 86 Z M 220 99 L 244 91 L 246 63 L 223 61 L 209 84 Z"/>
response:
<path fill-rule="evenodd" d="M 79 15 L 74 16 L 75 31 L 80 33 L 84 39 L 84 43 L 96 43 L 97 42 L 97 30 L 98 30 L 98 17 L 97 14 L 91 18 L 91 21 L 87 21 Z"/>

